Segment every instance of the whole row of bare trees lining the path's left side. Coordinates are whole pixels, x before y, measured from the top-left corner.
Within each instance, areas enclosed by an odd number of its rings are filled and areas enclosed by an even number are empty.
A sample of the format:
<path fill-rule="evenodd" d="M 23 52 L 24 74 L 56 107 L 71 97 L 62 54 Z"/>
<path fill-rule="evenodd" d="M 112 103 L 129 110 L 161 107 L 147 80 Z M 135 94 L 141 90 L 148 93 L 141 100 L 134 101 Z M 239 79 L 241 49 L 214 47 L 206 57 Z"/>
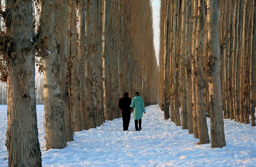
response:
<path fill-rule="evenodd" d="M 41 166 L 35 62 L 44 76 L 46 150 L 64 148 L 74 131 L 119 118 L 123 92 L 139 91 L 145 104 L 157 103 L 149 0 L 5 4 L 0 67 L 7 82 L 9 166 Z"/>

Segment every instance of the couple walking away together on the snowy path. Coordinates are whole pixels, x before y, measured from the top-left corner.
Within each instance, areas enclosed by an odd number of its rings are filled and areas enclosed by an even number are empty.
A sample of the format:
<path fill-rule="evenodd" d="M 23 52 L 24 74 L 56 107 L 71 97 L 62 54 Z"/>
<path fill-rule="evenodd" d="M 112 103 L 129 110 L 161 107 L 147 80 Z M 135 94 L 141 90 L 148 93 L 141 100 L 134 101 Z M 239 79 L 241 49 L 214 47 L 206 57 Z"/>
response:
<path fill-rule="evenodd" d="M 133 99 L 129 97 L 129 93 L 124 92 L 123 97 L 120 98 L 118 103 L 119 108 L 121 109 L 123 116 L 123 131 L 128 130 L 130 119 L 131 119 L 131 109 L 133 109 L 133 117 L 135 122 L 136 131 L 141 130 L 141 119 L 143 112 L 145 111 L 145 106 L 142 97 L 139 92 L 136 92 L 133 96 Z M 139 123 L 139 127 L 138 127 Z"/>

